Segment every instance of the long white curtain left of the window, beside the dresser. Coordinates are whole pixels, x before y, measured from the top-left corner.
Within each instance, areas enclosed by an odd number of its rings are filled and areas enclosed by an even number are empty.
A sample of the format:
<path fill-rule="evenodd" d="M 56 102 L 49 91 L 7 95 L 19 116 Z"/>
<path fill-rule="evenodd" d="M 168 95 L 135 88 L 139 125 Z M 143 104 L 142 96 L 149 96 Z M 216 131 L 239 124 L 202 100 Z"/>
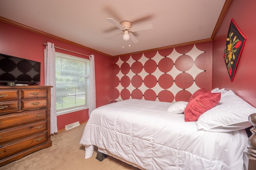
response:
<path fill-rule="evenodd" d="M 56 76 L 54 43 L 48 42 L 44 49 L 44 81 L 51 88 L 51 134 L 58 132 L 56 113 Z"/>

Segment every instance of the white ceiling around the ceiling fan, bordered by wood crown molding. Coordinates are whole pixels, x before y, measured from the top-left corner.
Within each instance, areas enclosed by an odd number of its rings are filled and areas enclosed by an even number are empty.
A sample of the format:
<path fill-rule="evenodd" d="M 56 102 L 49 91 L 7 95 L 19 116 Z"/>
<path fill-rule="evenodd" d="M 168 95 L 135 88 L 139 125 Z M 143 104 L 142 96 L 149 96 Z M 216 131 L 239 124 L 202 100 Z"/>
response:
<path fill-rule="evenodd" d="M 211 38 L 225 0 L 0 0 L 0 16 L 116 56 Z M 106 18 L 153 28 L 122 40 Z M 58 44 L 55 44 L 58 46 Z M 131 45 L 130 47 L 128 45 Z M 124 46 L 124 47 L 123 47 Z"/>

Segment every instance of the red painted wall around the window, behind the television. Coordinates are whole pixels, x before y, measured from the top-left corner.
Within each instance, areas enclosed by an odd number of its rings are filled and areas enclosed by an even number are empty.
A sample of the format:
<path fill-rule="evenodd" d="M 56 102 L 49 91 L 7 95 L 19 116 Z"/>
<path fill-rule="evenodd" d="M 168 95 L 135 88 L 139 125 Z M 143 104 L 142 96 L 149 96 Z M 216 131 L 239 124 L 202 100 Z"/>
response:
<path fill-rule="evenodd" d="M 52 42 L 55 46 L 64 49 L 94 55 L 95 77 L 96 77 L 96 106 L 108 104 L 112 99 L 112 58 L 65 43 L 41 34 L 37 34 L 4 22 L 0 22 L 0 53 L 31 59 L 41 62 L 41 85 L 44 85 L 44 43 Z M 88 58 L 84 55 L 74 54 L 68 51 L 56 49 L 57 52 L 76 55 Z M 79 121 L 80 123 L 88 120 L 88 109 L 77 111 L 57 117 L 58 130 L 64 129 L 65 125 Z"/>

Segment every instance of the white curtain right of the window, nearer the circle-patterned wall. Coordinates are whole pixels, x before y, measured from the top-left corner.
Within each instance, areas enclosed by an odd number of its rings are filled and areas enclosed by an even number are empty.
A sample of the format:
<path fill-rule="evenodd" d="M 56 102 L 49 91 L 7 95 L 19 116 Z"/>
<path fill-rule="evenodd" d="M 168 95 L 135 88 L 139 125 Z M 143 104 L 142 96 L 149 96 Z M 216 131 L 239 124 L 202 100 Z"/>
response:
<path fill-rule="evenodd" d="M 95 88 L 95 65 L 94 55 L 90 55 L 90 78 L 89 78 L 89 117 L 91 112 L 96 109 L 96 88 Z"/>

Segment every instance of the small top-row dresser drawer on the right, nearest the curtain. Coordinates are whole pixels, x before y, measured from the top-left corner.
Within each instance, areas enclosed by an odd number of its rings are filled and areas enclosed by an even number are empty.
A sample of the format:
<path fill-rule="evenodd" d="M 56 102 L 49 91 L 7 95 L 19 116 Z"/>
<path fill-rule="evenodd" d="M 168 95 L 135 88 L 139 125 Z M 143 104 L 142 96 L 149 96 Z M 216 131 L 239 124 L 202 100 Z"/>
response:
<path fill-rule="evenodd" d="M 22 99 L 48 97 L 48 89 L 22 89 Z"/>

